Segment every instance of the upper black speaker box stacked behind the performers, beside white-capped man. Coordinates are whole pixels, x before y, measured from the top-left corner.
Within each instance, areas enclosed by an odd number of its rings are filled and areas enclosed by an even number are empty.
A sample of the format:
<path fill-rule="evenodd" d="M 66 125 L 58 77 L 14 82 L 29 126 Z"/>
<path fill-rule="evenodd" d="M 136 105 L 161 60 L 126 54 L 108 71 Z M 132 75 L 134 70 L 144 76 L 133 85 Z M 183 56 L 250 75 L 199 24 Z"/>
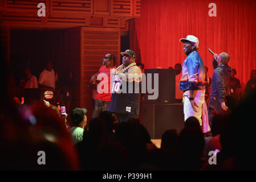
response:
<path fill-rule="evenodd" d="M 145 69 L 145 76 L 147 78 L 147 84 L 148 84 L 148 74 L 152 74 L 152 88 L 154 87 L 154 84 L 156 80 L 154 80 L 154 74 L 159 75 L 158 81 L 158 92 L 159 96 L 156 100 L 149 100 L 148 96 L 153 95 L 149 94 L 148 90 L 145 94 L 145 103 L 147 104 L 173 104 L 176 103 L 175 98 L 175 88 L 176 88 L 176 80 L 175 80 L 175 73 L 176 69 Z M 147 85 L 148 86 L 148 85 Z M 155 88 L 154 88 L 155 89 Z M 155 89 L 156 90 L 156 89 Z"/>

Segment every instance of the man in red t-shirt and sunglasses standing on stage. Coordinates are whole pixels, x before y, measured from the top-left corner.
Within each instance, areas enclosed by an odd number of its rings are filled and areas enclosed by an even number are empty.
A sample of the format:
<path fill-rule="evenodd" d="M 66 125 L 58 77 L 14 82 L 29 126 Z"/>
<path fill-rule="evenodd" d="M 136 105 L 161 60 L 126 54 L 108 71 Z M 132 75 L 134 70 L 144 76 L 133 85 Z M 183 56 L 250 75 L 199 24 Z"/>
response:
<path fill-rule="evenodd" d="M 111 81 L 110 81 L 110 71 L 115 67 L 116 58 L 115 55 L 107 53 L 103 57 L 103 67 L 99 69 L 97 80 L 99 84 L 97 86 L 97 95 L 95 100 L 94 112 L 92 113 L 92 118 L 99 117 L 102 111 L 108 110 L 109 103 L 111 100 Z"/>

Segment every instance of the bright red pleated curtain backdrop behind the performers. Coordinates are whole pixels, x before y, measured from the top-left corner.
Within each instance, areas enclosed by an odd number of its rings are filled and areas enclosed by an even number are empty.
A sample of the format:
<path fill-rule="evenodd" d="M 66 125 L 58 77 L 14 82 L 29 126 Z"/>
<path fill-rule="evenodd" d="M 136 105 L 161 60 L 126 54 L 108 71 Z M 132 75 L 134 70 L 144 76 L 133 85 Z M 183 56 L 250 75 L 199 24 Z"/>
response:
<path fill-rule="evenodd" d="M 216 3 L 217 16 L 208 15 Z M 179 42 L 186 35 L 199 39 L 198 52 L 212 77 L 213 52 L 227 52 L 229 65 L 237 70 L 242 90 L 256 69 L 256 1 L 248 0 L 145 0 L 141 17 L 130 23 L 130 45 L 145 68 L 168 68 L 183 63 L 186 55 Z"/>

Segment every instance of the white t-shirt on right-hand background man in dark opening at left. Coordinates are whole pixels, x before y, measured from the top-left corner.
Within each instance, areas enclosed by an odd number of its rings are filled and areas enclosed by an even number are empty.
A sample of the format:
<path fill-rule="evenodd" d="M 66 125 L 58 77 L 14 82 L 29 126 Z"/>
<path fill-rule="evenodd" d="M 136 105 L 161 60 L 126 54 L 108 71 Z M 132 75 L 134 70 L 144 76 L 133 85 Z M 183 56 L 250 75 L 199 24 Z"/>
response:
<path fill-rule="evenodd" d="M 44 86 L 50 86 L 55 89 L 55 82 L 58 80 L 57 73 L 55 74 L 54 69 L 51 69 L 51 71 L 47 71 L 44 69 L 42 73 L 40 73 L 38 84 L 44 85 Z"/>

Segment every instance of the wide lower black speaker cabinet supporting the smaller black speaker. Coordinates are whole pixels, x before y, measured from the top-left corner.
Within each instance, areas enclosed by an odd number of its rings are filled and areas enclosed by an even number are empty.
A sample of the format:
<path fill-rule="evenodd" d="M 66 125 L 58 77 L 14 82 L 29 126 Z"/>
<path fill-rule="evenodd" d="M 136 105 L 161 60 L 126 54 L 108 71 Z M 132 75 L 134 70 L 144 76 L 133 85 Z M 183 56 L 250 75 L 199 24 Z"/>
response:
<path fill-rule="evenodd" d="M 184 127 L 183 104 L 143 104 L 141 123 L 146 127 L 151 139 L 161 139 L 166 130 Z"/>

